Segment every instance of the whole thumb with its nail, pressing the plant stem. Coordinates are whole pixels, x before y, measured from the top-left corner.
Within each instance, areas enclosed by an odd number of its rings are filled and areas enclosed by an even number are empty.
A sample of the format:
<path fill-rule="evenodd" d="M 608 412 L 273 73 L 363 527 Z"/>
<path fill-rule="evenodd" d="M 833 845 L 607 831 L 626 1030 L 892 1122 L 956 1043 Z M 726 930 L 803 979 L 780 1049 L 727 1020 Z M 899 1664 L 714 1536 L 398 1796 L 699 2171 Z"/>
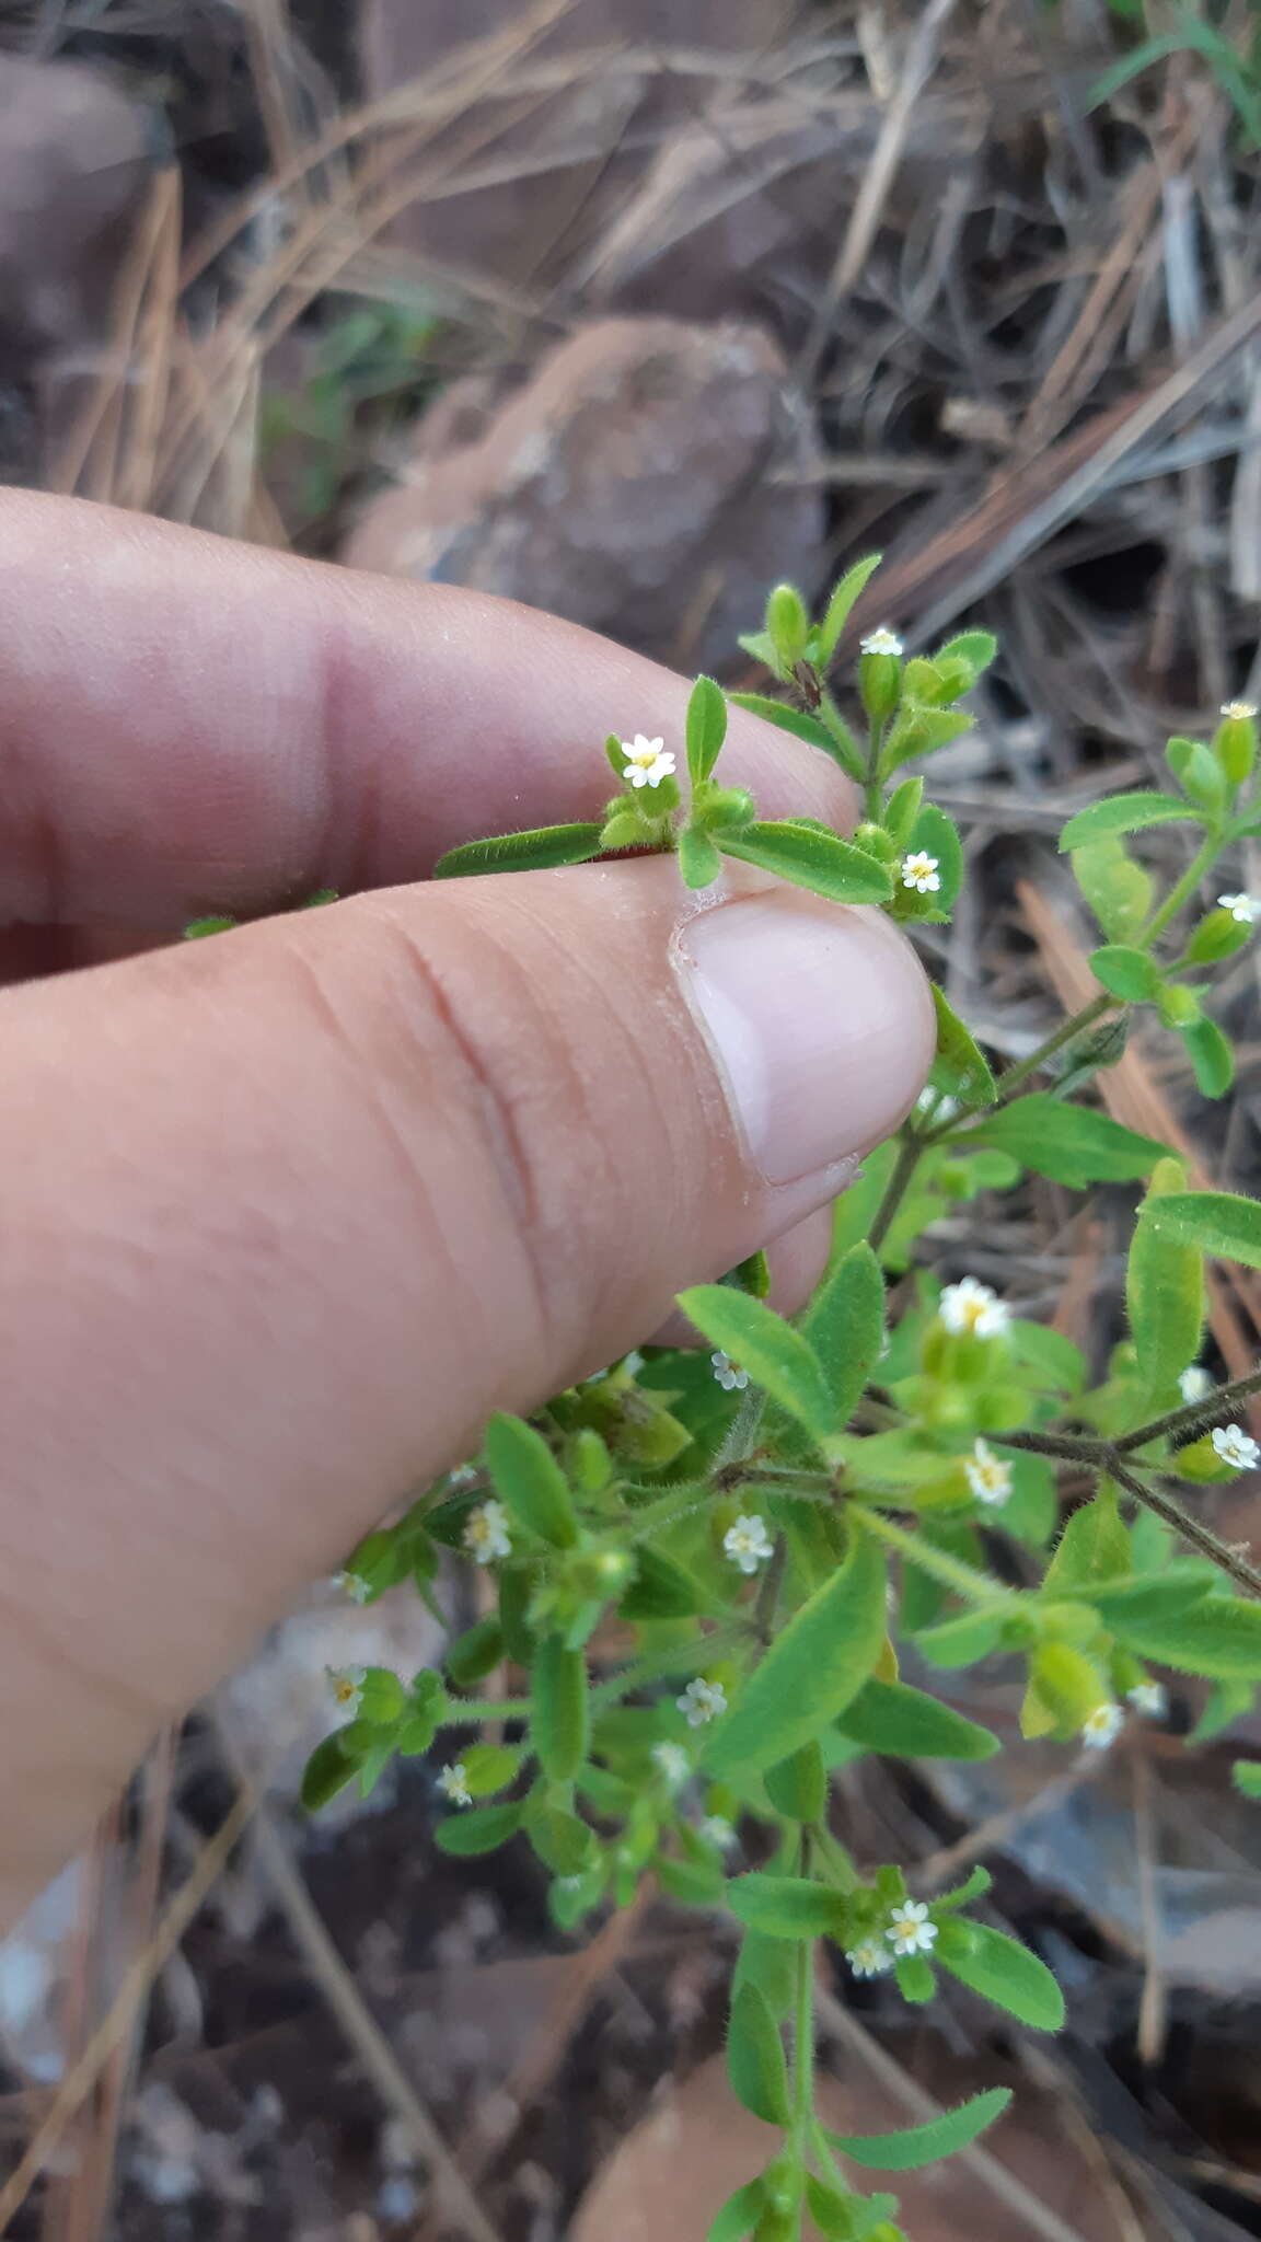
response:
<path fill-rule="evenodd" d="M 933 1049 L 889 919 L 765 881 L 696 908 L 666 861 L 363 895 L 0 1002 L 18 1883 L 491 1408 L 821 1206 Z"/>

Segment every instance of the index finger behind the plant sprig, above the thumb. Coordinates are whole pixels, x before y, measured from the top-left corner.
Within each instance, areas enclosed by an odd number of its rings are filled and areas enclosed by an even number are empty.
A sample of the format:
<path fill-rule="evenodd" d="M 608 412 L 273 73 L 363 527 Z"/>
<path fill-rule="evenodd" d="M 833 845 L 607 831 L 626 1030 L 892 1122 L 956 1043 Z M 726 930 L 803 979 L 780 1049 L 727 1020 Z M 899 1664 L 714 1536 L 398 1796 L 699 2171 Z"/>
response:
<path fill-rule="evenodd" d="M 599 742 L 689 686 L 572 623 L 83 500 L 0 500 L 0 919 L 168 928 L 417 879 L 592 816 Z M 817 749 L 731 711 L 725 776 L 853 825 Z"/>

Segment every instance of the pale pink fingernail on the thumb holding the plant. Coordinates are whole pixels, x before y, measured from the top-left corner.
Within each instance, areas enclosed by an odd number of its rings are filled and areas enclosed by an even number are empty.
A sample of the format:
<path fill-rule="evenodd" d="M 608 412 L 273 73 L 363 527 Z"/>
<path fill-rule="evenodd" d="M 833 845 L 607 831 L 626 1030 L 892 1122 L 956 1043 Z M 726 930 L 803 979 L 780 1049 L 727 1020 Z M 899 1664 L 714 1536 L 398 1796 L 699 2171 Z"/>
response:
<path fill-rule="evenodd" d="M 933 1051 L 933 1007 L 880 912 L 776 888 L 689 919 L 675 966 L 767 1184 L 880 1143 Z"/>

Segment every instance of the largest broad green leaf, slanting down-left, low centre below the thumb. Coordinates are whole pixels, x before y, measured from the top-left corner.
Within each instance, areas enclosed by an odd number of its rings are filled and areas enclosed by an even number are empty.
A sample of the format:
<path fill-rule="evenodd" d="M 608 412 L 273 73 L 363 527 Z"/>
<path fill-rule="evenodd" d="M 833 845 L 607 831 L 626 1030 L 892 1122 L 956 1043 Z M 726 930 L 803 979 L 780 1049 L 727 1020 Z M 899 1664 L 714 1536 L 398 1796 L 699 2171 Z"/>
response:
<path fill-rule="evenodd" d="M 884 1556 L 859 1536 L 776 1634 L 707 1751 L 714 1773 L 774 1767 L 837 1720 L 884 1646 Z"/>

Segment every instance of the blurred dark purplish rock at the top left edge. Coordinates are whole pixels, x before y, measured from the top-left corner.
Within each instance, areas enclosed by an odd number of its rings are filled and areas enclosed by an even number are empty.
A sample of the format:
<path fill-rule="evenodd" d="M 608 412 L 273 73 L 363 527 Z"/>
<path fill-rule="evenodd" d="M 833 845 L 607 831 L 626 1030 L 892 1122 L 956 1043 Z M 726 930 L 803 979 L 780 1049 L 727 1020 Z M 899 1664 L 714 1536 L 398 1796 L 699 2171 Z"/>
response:
<path fill-rule="evenodd" d="M 150 119 L 79 63 L 0 54 L 0 368 L 99 341 L 150 177 Z"/>

